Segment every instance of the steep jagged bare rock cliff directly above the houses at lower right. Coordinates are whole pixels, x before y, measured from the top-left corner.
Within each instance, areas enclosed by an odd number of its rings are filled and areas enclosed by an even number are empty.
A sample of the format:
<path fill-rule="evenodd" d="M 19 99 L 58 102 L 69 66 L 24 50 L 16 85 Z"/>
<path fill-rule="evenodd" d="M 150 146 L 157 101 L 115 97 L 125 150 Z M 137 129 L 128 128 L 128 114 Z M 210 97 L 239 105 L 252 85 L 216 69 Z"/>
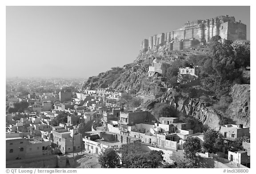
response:
<path fill-rule="evenodd" d="M 236 84 L 232 87 L 230 95 L 233 100 L 226 112 L 218 111 L 200 99 L 184 97 L 183 95 L 176 96 L 175 93 L 175 90 L 169 90 L 162 97 L 151 101 L 148 105 L 155 102 L 169 103 L 179 112 L 193 116 L 213 129 L 220 127 L 222 117 L 230 118 L 235 124 L 250 126 L 250 85 L 248 84 Z"/>

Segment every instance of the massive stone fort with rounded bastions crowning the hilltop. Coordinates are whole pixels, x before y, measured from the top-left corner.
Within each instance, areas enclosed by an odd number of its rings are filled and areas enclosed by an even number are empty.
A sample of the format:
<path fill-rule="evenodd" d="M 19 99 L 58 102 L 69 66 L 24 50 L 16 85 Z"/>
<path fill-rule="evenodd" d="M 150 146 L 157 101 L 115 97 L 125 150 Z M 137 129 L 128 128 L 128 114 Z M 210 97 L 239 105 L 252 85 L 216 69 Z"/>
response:
<path fill-rule="evenodd" d="M 168 50 L 183 50 L 197 44 L 208 43 L 219 35 L 227 40 L 246 40 L 246 25 L 236 22 L 234 16 L 221 15 L 216 18 L 186 22 L 182 27 L 168 33 L 160 33 L 143 39 L 141 51 L 154 50 L 168 44 Z"/>

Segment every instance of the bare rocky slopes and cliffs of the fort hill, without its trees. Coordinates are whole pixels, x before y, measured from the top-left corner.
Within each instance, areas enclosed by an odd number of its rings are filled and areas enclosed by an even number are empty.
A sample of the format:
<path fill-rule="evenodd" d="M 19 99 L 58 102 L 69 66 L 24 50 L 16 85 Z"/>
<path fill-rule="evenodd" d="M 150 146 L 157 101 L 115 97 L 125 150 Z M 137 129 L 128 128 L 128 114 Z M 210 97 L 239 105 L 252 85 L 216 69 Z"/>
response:
<path fill-rule="evenodd" d="M 123 68 L 112 68 L 112 70 L 106 73 L 100 73 L 96 77 L 90 77 L 84 87 L 95 88 L 98 85 L 107 83 L 109 87 L 116 90 L 133 89 L 140 96 L 157 96 L 158 98 L 149 101 L 145 108 L 150 110 L 157 102 L 168 103 L 179 112 L 199 119 L 204 125 L 208 125 L 209 128 L 219 129 L 220 124 L 227 123 L 223 121 L 224 118 L 228 118 L 229 123 L 232 124 L 250 126 L 250 85 L 248 84 L 236 84 L 232 87 L 230 92 L 232 103 L 223 112 L 216 110 L 212 104 L 200 100 L 199 96 L 201 94 L 198 94 L 197 97 L 191 97 L 186 93 L 186 90 L 181 89 L 181 95 L 177 95 L 176 89 L 168 88 L 164 77 L 158 74 L 153 75 L 153 77 L 148 76 L 148 66 L 153 58 L 170 62 L 177 57 L 186 58 L 191 54 L 200 54 L 200 51 L 168 52 L 168 48 L 162 46 L 158 50 L 141 52 L 133 63 L 127 64 Z M 209 98 L 213 97 L 208 94 L 204 95 Z"/>

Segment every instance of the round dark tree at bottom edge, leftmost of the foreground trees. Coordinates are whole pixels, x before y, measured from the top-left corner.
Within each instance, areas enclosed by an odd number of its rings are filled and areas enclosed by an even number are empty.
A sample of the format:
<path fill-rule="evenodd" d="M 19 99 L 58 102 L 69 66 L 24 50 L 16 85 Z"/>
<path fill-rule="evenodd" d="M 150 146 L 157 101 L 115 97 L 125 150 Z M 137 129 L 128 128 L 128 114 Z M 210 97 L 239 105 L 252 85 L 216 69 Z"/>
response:
<path fill-rule="evenodd" d="M 108 147 L 98 156 L 99 163 L 103 168 L 115 168 L 118 165 L 119 158 L 114 147 Z"/>

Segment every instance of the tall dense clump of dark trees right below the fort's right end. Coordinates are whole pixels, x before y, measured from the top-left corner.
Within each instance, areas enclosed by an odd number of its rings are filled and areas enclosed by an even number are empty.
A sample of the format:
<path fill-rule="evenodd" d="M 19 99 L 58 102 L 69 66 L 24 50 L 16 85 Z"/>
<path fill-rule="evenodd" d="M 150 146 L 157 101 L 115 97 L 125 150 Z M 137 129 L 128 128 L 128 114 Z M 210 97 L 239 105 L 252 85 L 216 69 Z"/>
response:
<path fill-rule="evenodd" d="M 210 57 L 201 62 L 200 80 L 202 85 L 217 94 L 228 93 L 233 83 L 242 83 L 242 73 L 250 65 L 250 45 L 233 44 L 214 36 L 210 42 Z M 196 58 L 192 58 L 192 62 Z"/>

